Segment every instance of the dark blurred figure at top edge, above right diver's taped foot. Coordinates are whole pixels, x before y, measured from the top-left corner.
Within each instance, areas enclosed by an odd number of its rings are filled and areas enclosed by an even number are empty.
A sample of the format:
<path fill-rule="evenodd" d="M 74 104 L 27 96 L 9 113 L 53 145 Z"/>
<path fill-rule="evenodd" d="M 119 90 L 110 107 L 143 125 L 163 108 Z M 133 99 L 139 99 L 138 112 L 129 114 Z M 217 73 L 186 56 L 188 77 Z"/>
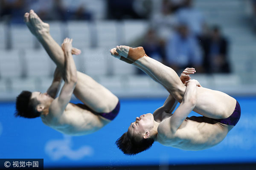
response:
<path fill-rule="evenodd" d="M 133 8 L 134 0 L 108 0 L 109 19 L 139 19 Z"/>

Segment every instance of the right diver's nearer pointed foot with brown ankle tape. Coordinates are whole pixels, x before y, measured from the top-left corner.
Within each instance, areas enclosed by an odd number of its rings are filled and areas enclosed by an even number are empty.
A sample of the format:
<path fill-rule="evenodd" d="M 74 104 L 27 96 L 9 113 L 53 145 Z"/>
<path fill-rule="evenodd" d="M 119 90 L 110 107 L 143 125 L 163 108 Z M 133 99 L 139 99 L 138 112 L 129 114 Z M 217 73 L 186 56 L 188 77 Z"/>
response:
<path fill-rule="evenodd" d="M 121 56 L 129 59 L 132 62 L 135 62 L 137 59 L 147 56 L 147 54 L 145 54 L 143 47 L 131 48 L 125 45 L 120 45 L 116 46 L 116 51 Z"/>

